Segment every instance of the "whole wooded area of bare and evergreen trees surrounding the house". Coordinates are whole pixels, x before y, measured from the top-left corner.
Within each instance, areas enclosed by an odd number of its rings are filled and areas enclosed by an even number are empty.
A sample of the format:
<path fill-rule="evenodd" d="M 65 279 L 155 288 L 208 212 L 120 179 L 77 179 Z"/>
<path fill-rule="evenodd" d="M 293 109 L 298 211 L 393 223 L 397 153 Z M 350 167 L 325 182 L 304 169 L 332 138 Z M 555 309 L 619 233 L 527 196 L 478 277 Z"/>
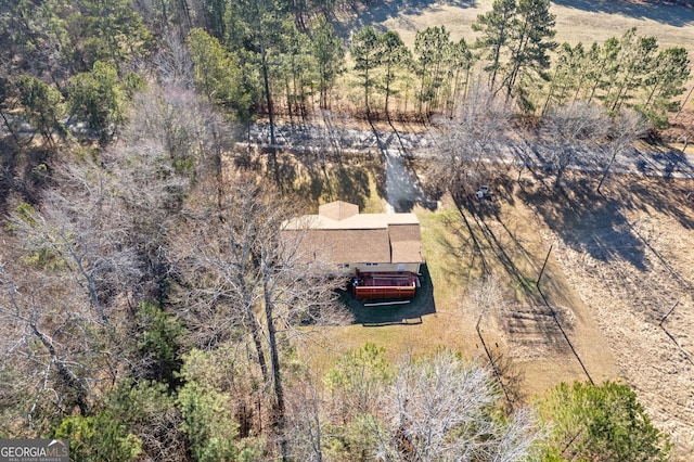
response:
<path fill-rule="evenodd" d="M 242 152 L 248 124 L 273 145 L 279 120 L 329 113 L 436 127 L 426 187 L 462 198 L 511 126 L 549 146 L 557 189 L 588 149 L 604 180 L 690 79 L 684 48 L 634 29 L 556 43 L 549 0 L 497 0 L 474 43 L 441 25 L 412 48 L 338 33 L 370 3 L 0 5 L 2 438 L 68 438 L 89 461 L 667 460 L 625 385 L 512 406 L 447 349 L 394 363 L 368 344 L 320 374 L 297 357 L 351 313 L 281 238 L 316 204 L 273 181 L 274 151 Z"/>

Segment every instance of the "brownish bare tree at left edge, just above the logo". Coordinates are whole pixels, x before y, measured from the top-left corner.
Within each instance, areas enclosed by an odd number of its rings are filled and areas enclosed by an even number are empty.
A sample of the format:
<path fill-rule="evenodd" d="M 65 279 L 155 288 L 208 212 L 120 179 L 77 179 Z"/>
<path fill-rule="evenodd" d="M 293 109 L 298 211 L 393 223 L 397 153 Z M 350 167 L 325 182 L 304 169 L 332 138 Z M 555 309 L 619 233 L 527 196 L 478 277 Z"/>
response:
<path fill-rule="evenodd" d="M 75 280 L 43 274 L 21 262 L 0 262 L 0 381 L 5 431 L 23 419 L 37 433 L 52 419 L 92 403 L 111 374 L 103 325 Z"/>

